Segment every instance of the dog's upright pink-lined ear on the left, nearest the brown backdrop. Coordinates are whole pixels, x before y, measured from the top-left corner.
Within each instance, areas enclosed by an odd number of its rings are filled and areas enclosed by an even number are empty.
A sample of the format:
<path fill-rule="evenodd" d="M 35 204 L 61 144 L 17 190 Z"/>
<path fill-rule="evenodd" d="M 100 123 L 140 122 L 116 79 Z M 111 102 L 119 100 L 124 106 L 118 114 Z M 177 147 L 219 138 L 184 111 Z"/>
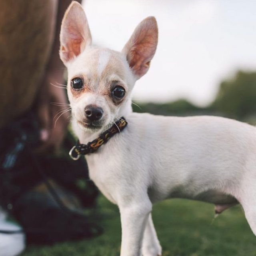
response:
<path fill-rule="evenodd" d="M 60 59 L 66 66 L 92 42 L 82 6 L 73 1 L 64 14 L 60 29 Z"/>

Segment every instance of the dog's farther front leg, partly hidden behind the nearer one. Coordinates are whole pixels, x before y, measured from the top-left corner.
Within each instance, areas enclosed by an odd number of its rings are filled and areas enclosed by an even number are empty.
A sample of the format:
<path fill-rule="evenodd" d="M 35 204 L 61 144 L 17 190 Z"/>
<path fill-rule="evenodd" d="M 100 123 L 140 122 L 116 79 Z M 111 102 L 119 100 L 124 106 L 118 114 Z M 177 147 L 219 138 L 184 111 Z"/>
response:
<path fill-rule="evenodd" d="M 160 256 L 162 255 L 162 248 L 158 241 L 156 230 L 154 228 L 151 213 L 148 216 L 148 221 L 144 230 L 142 240 L 142 255 L 143 256 Z"/>

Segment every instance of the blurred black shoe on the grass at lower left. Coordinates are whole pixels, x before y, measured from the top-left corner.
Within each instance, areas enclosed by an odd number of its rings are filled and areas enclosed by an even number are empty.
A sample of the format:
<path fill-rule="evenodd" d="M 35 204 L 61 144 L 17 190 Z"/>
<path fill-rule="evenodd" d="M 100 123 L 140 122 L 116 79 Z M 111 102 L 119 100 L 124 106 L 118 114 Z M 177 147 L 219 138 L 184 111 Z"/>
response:
<path fill-rule="evenodd" d="M 77 207 L 70 193 L 54 188 L 62 202 L 61 208 L 44 185 L 24 194 L 13 206 L 14 217 L 20 222 L 30 244 L 54 244 L 98 236 L 100 228 L 89 216 L 69 210 Z"/>

